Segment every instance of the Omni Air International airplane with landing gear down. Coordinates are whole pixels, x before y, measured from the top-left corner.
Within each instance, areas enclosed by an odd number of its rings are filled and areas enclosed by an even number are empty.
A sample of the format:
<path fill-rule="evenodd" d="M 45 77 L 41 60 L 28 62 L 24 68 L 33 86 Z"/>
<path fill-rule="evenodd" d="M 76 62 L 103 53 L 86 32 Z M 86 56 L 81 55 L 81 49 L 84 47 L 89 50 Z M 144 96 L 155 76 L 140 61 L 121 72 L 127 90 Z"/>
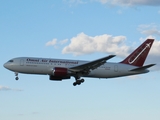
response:
<path fill-rule="evenodd" d="M 143 64 L 153 42 L 154 39 L 147 39 L 128 57 L 118 63 L 106 62 L 115 57 L 115 55 L 109 55 L 93 61 L 17 57 L 9 60 L 3 66 L 15 73 L 16 80 L 19 79 L 18 73 L 49 75 L 49 79 L 53 81 L 62 81 L 74 77 L 73 86 L 76 86 L 84 82 L 81 77 L 115 78 L 148 73 L 148 68 L 155 64 L 145 66 Z"/>

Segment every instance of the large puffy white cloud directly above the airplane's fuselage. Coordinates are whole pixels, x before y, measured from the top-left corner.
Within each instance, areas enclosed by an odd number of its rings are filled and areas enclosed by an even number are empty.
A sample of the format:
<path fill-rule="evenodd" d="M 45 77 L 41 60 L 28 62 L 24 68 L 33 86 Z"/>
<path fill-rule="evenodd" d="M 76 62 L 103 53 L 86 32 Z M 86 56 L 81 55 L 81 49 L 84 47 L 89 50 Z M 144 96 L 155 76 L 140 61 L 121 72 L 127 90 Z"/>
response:
<path fill-rule="evenodd" d="M 91 54 L 94 52 L 105 52 L 126 56 L 130 49 L 125 45 L 125 36 L 99 35 L 88 36 L 84 33 L 78 34 L 70 40 L 70 44 L 62 50 L 63 54 L 72 53 L 74 55 Z"/>

